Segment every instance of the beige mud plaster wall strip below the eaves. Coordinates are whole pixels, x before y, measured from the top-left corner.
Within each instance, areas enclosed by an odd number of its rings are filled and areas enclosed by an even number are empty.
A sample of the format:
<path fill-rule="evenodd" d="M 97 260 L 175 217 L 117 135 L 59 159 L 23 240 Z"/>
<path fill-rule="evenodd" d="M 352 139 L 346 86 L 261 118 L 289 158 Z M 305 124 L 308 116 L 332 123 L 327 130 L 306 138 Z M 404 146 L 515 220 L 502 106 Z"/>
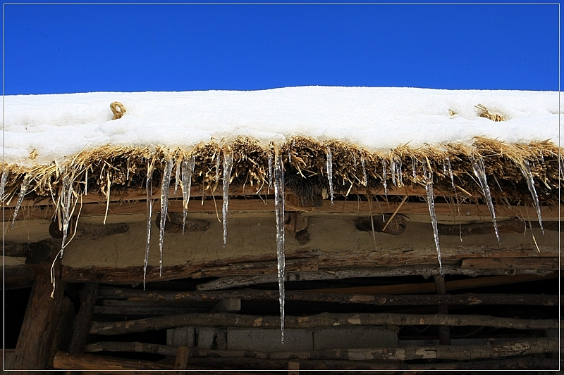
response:
<path fill-rule="evenodd" d="M 274 215 L 273 215 L 274 216 Z M 154 222 L 155 217 L 153 217 Z M 115 221 L 115 220 L 112 220 Z M 209 229 L 203 232 L 182 234 L 166 233 L 164 236 L 164 266 L 184 265 L 187 262 L 203 262 L 248 256 L 276 256 L 276 231 L 274 217 L 244 219 L 230 217 L 228 241 L 223 248 L 221 222 L 211 220 Z M 286 234 L 286 254 L 300 248 L 321 250 L 323 253 L 363 253 L 376 264 L 417 264 L 417 259 L 436 262 L 436 249 L 431 224 L 408 222 L 400 236 L 376 233 L 376 246 L 372 234 L 357 231 L 355 221 L 349 218 L 310 217 L 307 229 L 311 241 L 300 246 L 294 234 Z M 558 255 L 558 232 L 534 229 L 541 256 Z M 99 241 L 78 240 L 71 242 L 63 257 L 68 267 L 131 267 L 140 266 L 145 258 L 147 240 L 146 222 L 130 222 L 125 234 L 109 236 Z M 444 262 L 453 262 L 461 255 L 480 257 L 485 253 L 508 252 L 513 256 L 537 256 L 531 231 L 523 234 L 501 234 L 498 246 L 495 234 L 468 236 L 441 236 L 441 252 Z M 469 250 L 471 249 L 471 250 Z M 497 249 L 497 250 L 496 250 Z M 490 254 L 491 255 L 491 254 Z M 274 260 L 274 259 L 273 259 Z M 159 229 L 152 225 L 149 265 L 159 265 Z"/>

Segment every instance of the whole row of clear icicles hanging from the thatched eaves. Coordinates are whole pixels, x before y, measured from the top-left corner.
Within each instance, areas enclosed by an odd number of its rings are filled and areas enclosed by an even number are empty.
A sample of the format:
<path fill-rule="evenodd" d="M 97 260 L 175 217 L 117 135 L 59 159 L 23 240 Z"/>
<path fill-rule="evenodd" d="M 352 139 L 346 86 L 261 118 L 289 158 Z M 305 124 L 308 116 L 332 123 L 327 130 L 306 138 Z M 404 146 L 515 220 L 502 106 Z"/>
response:
<path fill-rule="evenodd" d="M 288 153 L 288 158 L 291 158 L 291 154 Z M 269 189 L 272 189 L 274 184 L 274 195 L 275 195 L 275 205 L 276 205 L 276 255 L 278 261 L 278 290 L 280 293 L 280 317 L 281 317 L 281 341 L 284 342 L 284 281 L 286 279 L 284 273 L 285 267 L 285 259 L 284 259 L 284 172 L 283 172 L 283 160 L 281 153 L 278 152 L 278 148 L 274 150 L 274 158 L 271 153 L 268 153 L 268 163 L 269 163 Z M 560 160 L 560 158 L 559 158 Z M 216 158 L 216 182 L 219 180 L 219 165 L 220 165 L 220 155 L 218 153 Z M 494 204 L 492 202 L 491 193 L 489 189 L 488 182 L 486 180 L 486 171 L 484 166 L 484 160 L 482 157 L 479 158 L 470 158 L 470 162 L 472 163 L 472 168 L 475 177 L 478 180 L 479 186 L 484 193 L 484 198 L 486 200 L 486 204 L 489 208 L 491 213 L 491 220 L 494 224 L 494 229 L 496 232 L 496 238 L 498 239 L 498 243 L 500 243 L 499 233 L 498 233 L 498 225 L 496 222 L 496 213 L 494 210 Z M 162 266 L 163 266 L 163 242 L 164 242 L 164 229 L 166 224 L 166 214 L 168 210 L 168 191 L 170 189 L 171 184 L 171 177 L 172 177 L 172 170 L 173 170 L 174 160 L 172 158 L 167 158 L 164 172 L 161 179 L 161 222 L 160 222 L 160 233 L 159 233 L 159 251 L 160 251 L 160 272 L 159 275 L 162 276 Z M 426 165 L 427 164 L 427 165 Z M 274 165 L 274 166 L 273 166 Z M 363 168 L 363 178 L 362 184 L 364 186 L 367 185 L 367 172 L 364 167 L 364 158 L 361 158 L 361 165 Z M 427 169 L 427 166 L 429 169 Z M 541 227 L 541 231 L 544 234 L 544 229 L 542 227 L 542 217 L 541 217 L 541 208 L 539 205 L 539 198 L 537 196 L 537 191 L 534 188 L 534 179 L 532 176 L 531 168 L 527 160 L 524 160 L 522 165 L 519 166 L 520 170 L 527 181 L 527 186 L 532 196 L 532 201 L 534 204 L 534 208 L 537 211 L 537 216 L 539 219 L 539 224 Z M 434 208 L 434 193 L 433 193 L 433 171 L 431 170 L 431 165 L 427 160 L 427 163 L 422 164 L 423 174 L 424 174 L 424 184 L 426 186 L 427 191 L 427 203 L 429 205 L 429 215 L 431 216 L 431 225 L 433 227 L 434 232 L 434 241 L 436 246 L 436 253 L 437 258 L 439 260 L 439 272 L 443 273 L 443 267 L 441 262 L 441 247 L 439 244 L 439 233 L 437 227 L 437 220 Z M 182 189 L 183 194 L 183 234 L 184 234 L 184 227 L 188 212 L 188 203 L 190 202 L 190 189 L 192 184 L 192 174 L 195 169 L 195 155 L 192 155 L 190 159 L 182 160 L 182 163 L 176 164 L 176 185 L 174 191 L 176 193 L 178 188 L 178 183 L 180 182 L 180 187 Z M 413 177 L 414 180 L 417 181 L 416 175 L 416 163 L 415 159 L 412 160 L 412 169 L 413 169 Z M 560 160 L 560 170 L 562 170 L 561 160 Z M 223 209 L 222 209 L 222 222 L 223 222 L 223 246 L 226 246 L 227 243 L 227 214 L 228 214 L 228 193 L 229 193 L 229 184 L 231 182 L 231 171 L 233 170 L 233 152 L 229 148 L 223 149 Z M 382 169 L 382 176 L 383 176 L 383 185 L 384 185 L 384 193 L 388 194 L 388 186 L 387 186 L 387 179 L 386 173 L 388 170 L 388 166 L 386 165 L 386 161 L 383 160 L 383 169 Z M 152 217 L 152 173 L 154 171 L 154 164 L 149 163 L 148 170 L 147 170 L 147 181 L 146 181 L 146 190 L 147 190 L 147 243 L 145 249 L 145 262 L 143 267 L 143 288 L 145 288 L 145 281 L 147 277 L 147 263 L 149 260 L 149 244 L 151 240 L 151 217 Z M 59 208 L 59 218 L 61 220 L 61 231 L 63 232 L 63 239 L 61 243 L 61 258 L 63 256 L 63 250 L 67 245 L 67 238 L 68 238 L 68 227 L 71 221 L 71 217 L 73 215 L 73 174 L 69 172 L 68 168 L 64 168 L 61 171 L 63 174 L 63 185 L 61 189 L 61 194 L 59 196 L 59 201 L 57 202 L 57 206 Z M 394 185 L 401 186 L 403 184 L 402 181 L 402 163 L 400 160 L 391 160 L 389 165 L 389 172 L 391 174 L 391 180 Z M 331 198 L 331 205 L 333 205 L 333 155 L 331 153 L 331 148 L 326 146 L 326 174 L 329 184 L 329 195 Z M 452 186 L 454 187 L 454 177 L 453 171 L 450 165 L 450 159 L 446 158 L 446 163 L 443 163 L 443 174 L 445 176 L 450 176 L 450 181 Z M 18 216 L 18 211 L 20 209 L 21 204 L 23 203 L 23 198 L 27 191 L 27 185 L 30 182 L 30 174 L 26 174 L 23 182 L 20 186 L 20 192 L 18 195 L 18 201 L 16 203 L 16 208 L 13 212 L 13 220 L 11 227 L 14 227 L 16 222 L 16 217 Z M 7 169 L 4 168 L 1 179 L 0 179 L 0 197 L 4 202 L 4 189 L 6 186 L 6 181 L 8 179 L 8 172 Z M 108 187 L 109 189 L 109 187 Z M 109 192 L 108 192 L 109 196 Z M 76 204 L 76 203 L 75 203 Z"/>

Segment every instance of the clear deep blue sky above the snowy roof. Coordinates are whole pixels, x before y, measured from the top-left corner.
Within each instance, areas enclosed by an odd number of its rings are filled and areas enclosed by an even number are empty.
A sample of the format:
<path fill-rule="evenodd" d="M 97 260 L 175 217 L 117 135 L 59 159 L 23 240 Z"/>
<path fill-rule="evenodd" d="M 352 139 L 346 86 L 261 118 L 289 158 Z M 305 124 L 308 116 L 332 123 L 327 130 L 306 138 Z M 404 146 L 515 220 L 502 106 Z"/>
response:
<path fill-rule="evenodd" d="M 6 94 L 558 90 L 558 5 L 10 5 Z"/>

